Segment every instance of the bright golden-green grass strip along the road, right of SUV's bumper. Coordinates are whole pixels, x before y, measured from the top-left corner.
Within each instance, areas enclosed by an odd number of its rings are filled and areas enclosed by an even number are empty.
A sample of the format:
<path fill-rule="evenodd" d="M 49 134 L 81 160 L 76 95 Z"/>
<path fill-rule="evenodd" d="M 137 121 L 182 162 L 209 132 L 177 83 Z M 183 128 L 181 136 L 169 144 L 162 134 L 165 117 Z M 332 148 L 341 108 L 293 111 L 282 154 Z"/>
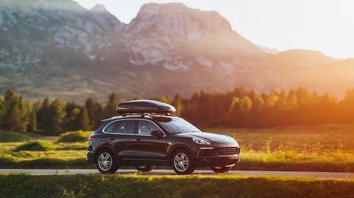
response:
<path fill-rule="evenodd" d="M 338 152 L 318 155 L 292 151 L 245 152 L 234 170 L 354 172 L 354 154 Z"/>

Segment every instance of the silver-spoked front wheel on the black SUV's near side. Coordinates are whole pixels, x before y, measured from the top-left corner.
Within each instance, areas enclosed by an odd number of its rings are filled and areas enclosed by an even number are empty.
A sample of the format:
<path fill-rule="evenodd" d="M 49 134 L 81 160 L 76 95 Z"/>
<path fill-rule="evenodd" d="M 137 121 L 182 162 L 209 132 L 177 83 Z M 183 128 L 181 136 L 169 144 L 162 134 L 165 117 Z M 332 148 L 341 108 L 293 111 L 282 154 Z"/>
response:
<path fill-rule="evenodd" d="M 192 156 L 184 149 L 178 150 L 173 154 L 172 167 L 179 175 L 189 175 L 195 170 Z"/>

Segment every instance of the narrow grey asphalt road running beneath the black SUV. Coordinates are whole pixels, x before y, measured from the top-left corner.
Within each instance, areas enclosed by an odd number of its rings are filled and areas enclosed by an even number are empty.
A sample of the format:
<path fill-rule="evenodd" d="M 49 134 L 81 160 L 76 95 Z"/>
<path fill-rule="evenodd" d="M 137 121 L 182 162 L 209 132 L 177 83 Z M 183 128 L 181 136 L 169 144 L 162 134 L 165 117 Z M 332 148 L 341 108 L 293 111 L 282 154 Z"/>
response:
<path fill-rule="evenodd" d="M 0 174 L 26 173 L 31 175 L 74 175 L 95 174 L 102 175 L 96 169 L 0 169 Z M 176 175 L 173 170 L 153 170 L 151 172 L 138 172 L 133 169 L 118 169 L 116 174 L 139 174 L 139 175 Z M 312 177 L 322 179 L 351 179 L 354 173 L 344 172 L 291 172 L 291 171 L 242 171 L 233 170 L 227 173 L 214 173 L 211 170 L 196 170 L 194 175 L 217 176 L 217 175 L 241 175 L 241 176 L 291 176 Z"/>

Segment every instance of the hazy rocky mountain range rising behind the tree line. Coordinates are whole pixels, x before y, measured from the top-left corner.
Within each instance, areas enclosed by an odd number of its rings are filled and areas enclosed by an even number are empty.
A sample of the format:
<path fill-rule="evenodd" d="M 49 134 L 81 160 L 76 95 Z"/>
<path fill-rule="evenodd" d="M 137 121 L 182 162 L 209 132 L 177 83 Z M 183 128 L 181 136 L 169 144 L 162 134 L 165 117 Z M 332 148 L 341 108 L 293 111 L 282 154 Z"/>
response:
<path fill-rule="evenodd" d="M 301 81 L 284 79 L 284 71 L 337 62 L 315 51 L 266 53 L 218 12 L 181 3 L 144 4 L 124 24 L 100 4 L 0 0 L 0 91 L 13 87 L 30 98 L 289 89 Z"/>

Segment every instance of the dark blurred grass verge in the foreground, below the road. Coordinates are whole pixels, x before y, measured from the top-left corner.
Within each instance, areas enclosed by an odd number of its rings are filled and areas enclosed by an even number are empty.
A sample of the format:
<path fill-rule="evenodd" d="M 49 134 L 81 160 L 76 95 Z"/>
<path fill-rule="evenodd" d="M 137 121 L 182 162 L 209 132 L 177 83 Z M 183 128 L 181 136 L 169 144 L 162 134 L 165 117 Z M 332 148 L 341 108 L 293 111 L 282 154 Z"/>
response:
<path fill-rule="evenodd" d="M 354 180 L 0 175 L 0 191 L 0 198 L 354 198 Z"/>

